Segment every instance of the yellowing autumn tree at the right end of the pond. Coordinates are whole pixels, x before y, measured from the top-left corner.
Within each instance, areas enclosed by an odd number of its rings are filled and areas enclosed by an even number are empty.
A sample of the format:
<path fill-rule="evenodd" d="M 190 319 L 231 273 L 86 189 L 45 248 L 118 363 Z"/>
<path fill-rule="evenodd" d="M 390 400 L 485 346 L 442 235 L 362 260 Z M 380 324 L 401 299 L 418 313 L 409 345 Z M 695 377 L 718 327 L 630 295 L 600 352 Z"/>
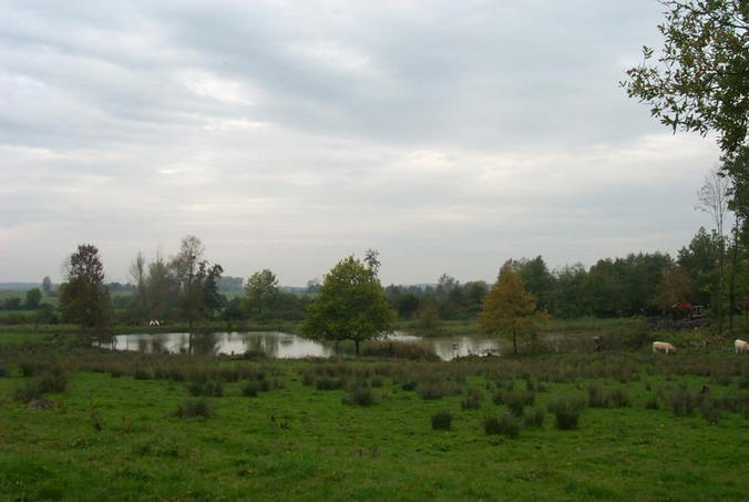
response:
<path fill-rule="evenodd" d="M 516 356 L 517 338 L 532 341 L 536 324 L 544 317 L 545 314 L 536 308 L 535 295 L 525 290 L 520 273 L 512 264 L 505 264 L 484 298 L 479 315 L 481 330 L 512 339 L 513 354 Z"/>

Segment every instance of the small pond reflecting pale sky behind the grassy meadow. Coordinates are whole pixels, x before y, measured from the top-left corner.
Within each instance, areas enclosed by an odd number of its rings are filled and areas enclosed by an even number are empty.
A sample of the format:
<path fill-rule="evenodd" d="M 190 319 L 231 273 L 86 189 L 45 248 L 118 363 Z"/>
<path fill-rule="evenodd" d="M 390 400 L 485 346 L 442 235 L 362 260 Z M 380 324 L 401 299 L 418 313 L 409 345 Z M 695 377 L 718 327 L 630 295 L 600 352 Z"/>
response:
<path fill-rule="evenodd" d="M 422 344 L 440 359 L 488 354 L 500 354 L 496 339 L 481 336 L 471 337 L 418 337 L 402 331 L 387 337 L 388 340 L 413 341 Z M 331 357 L 352 354 L 351 344 L 316 341 L 279 331 L 250 332 L 160 332 L 137 335 L 115 335 L 94 345 L 114 350 L 133 350 L 147 354 L 199 354 L 199 355 L 243 355 L 263 352 L 271 358 L 299 359 L 306 357 Z"/>

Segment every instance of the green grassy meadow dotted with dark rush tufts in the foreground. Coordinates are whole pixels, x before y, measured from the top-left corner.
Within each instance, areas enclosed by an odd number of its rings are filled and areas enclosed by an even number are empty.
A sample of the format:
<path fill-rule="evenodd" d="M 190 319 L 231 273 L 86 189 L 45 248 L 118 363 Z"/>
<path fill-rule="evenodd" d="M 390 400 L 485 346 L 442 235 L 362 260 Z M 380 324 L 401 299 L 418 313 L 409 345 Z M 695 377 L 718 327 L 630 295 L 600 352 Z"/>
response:
<path fill-rule="evenodd" d="M 0 500 L 746 500 L 728 344 L 451 362 L 0 334 Z"/>

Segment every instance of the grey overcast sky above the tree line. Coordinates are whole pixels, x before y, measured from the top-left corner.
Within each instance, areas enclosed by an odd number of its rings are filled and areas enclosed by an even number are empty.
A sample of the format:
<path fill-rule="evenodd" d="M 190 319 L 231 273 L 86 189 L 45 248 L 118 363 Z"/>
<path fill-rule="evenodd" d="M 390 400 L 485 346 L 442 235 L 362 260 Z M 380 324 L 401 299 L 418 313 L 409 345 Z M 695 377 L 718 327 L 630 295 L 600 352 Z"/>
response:
<path fill-rule="evenodd" d="M 655 0 L 0 0 L 0 280 L 194 234 L 226 274 L 493 280 L 675 252 L 710 139 L 618 88 Z"/>

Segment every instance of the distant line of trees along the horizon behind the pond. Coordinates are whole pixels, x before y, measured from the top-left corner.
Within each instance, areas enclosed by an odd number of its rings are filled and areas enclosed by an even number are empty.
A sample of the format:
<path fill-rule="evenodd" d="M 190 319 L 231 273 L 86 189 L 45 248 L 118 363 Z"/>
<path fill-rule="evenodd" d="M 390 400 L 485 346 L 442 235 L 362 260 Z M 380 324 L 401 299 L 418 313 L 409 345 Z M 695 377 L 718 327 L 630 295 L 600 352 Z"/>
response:
<path fill-rule="evenodd" d="M 538 309 L 552 317 L 657 316 L 669 314 L 680 301 L 702 305 L 714 314 L 746 316 L 749 310 L 746 246 L 733 239 L 722 250 L 735 257 L 724 266 L 729 287 L 722 289 L 721 246 L 722 239 L 715 230 L 700 228 L 675 258 L 663 253 L 637 253 L 599 259 L 588 268 L 575 264 L 550 270 L 543 257 L 536 256 L 509 259 L 502 267 L 516 272 L 524 288 L 534 295 Z M 160 319 L 192 325 L 204 320 L 302 320 L 322 287 L 310 280 L 305 290 L 284 290 L 276 275 L 263 269 L 246 280 L 242 293 L 225 295 L 218 287 L 223 267 L 207 262 L 204 253 L 201 239 L 195 236 L 185 237 L 179 252 L 168 259 L 157 256 L 146 263 L 138 253 L 130 270 L 132 283 L 112 296 L 104 283 L 98 249 L 81 245 L 70 257 L 68 280 L 57 291 L 45 281 L 44 294 L 58 295 L 59 320 L 65 322 L 140 325 Z M 366 259 L 379 267 L 377 252 L 369 250 Z M 236 285 L 236 278 L 233 279 Z M 461 284 L 443 274 L 434 285 L 389 285 L 382 293 L 399 320 L 430 330 L 440 320 L 475 319 L 490 287 L 483 280 Z M 27 291 L 25 307 L 39 308 L 41 296 L 39 290 Z M 93 310 L 103 317 L 93 314 L 92 304 L 99 305 Z M 23 305 L 20 298 L 6 298 L 0 307 L 12 310 Z M 49 310 L 43 309 L 47 321 Z"/>

